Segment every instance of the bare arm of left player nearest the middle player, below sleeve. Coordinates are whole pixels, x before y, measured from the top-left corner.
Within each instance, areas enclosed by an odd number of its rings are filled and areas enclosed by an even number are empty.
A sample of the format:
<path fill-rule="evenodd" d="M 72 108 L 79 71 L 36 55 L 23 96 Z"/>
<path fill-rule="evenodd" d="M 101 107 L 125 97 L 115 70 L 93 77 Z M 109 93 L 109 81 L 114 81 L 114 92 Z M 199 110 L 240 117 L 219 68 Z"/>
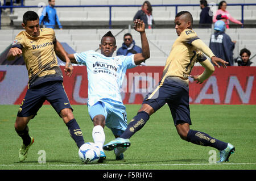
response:
<path fill-rule="evenodd" d="M 69 60 L 67 53 L 65 52 L 64 48 L 62 47 L 62 45 L 59 43 L 58 40 L 56 40 L 54 42 L 54 50 L 55 53 L 57 54 L 57 56 L 64 62 L 66 62 L 64 71 L 65 74 L 68 75 L 69 77 L 71 77 L 72 73 L 73 73 L 73 66 L 71 64 L 71 61 Z"/>

